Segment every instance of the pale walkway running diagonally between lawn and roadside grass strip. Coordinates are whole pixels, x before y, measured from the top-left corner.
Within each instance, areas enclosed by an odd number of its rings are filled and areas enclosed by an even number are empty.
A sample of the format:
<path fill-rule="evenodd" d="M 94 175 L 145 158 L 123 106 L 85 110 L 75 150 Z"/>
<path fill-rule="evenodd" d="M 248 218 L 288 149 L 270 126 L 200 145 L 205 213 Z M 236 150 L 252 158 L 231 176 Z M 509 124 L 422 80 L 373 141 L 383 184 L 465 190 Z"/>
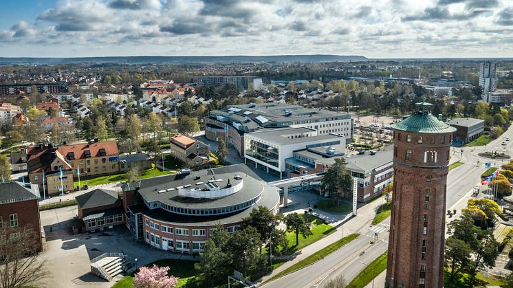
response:
<path fill-rule="evenodd" d="M 255 284 L 261 284 L 265 282 L 266 280 L 272 278 L 276 274 L 279 274 L 288 267 L 298 263 L 299 261 L 302 261 L 303 259 L 318 252 L 324 247 L 342 239 L 343 236 L 348 236 L 349 234 L 360 232 L 360 230 L 362 230 L 363 228 L 366 228 L 367 226 L 371 225 L 372 219 L 374 219 L 375 215 L 375 208 L 378 206 L 380 206 L 380 201 L 373 201 L 372 203 L 369 203 L 366 206 L 363 206 L 362 208 L 358 209 L 358 214 L 356 215 L 356 217 L 352 217 L 352 214 L 347 214 L 347 216 L 344 219 L 334 223 L 330 223 L 331 226 L 336 228 L 335 232 L 329 234 L 329 236 L 326 236 L 323 239 L 320 239 L 319 241 L 316 241 L 308 245 L 307 247 L 304 247 L 302 250 L 297 251 L 292 255 L 292 257 L 296 256 L 296 258 L 274 269 L 274 271 L 271 274 L 263 276 L 259 280 L 259 283 Z"/>

